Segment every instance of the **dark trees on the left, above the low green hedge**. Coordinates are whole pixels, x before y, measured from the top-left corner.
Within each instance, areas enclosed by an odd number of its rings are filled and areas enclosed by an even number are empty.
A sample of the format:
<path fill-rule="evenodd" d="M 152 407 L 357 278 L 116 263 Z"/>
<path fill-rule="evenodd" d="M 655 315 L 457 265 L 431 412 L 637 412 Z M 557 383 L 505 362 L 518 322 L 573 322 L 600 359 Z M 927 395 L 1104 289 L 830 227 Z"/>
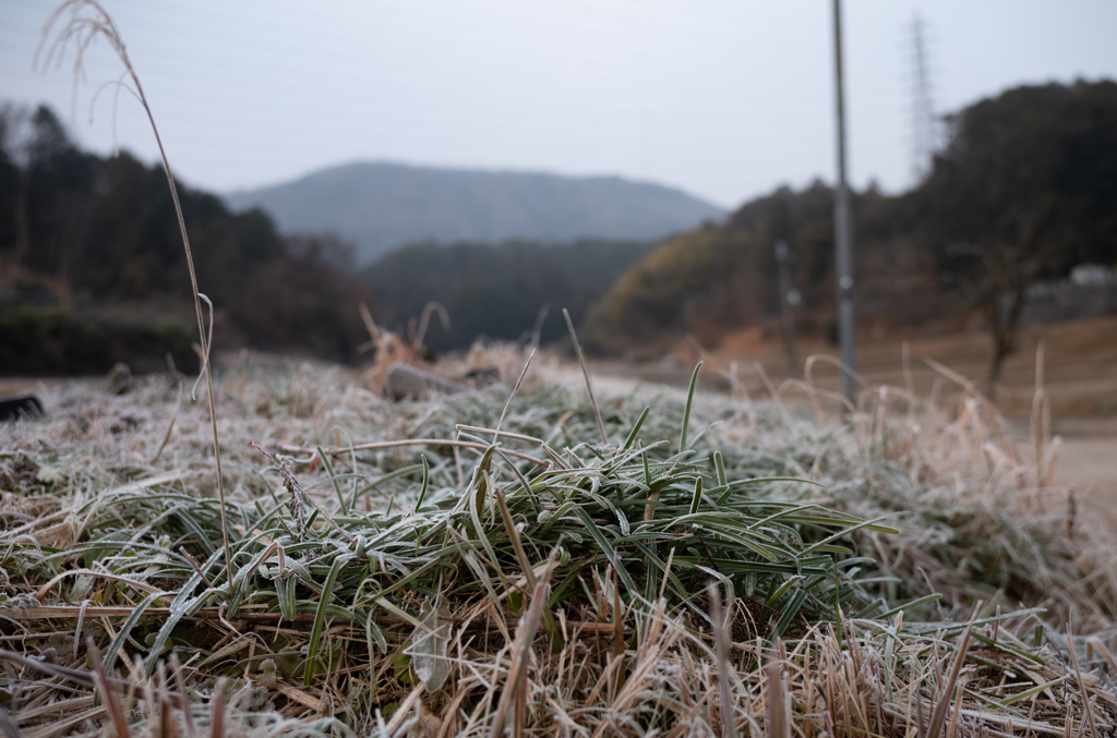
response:
<path fill-rule="evenodd" d="M 63 284 L 85 304 L 149 306 L 132 310 L 137 320 L 173 316 L 192 293 L 165 178 L 127 152 L 82 151 L 46 106 L 0 105 L 0 262 Z M 262 211 L 233 213 L 217 195 L 182 183 L 178 191 L 219 322 L 258 347 L 355 358 L 357 305 L 369 296 L 347 247 L 284 237 Z"/>

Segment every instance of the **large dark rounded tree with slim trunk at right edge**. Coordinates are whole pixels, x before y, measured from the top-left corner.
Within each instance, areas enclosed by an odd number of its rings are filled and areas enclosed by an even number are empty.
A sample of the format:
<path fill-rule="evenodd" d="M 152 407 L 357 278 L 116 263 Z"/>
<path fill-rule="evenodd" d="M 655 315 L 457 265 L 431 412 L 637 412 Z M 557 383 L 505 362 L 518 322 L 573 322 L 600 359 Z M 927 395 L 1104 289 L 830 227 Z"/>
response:
<path fill-rule="evenodd" d="M 938 268 L 986 318 L 992 395 L 1028 288 L 1117 260 L 1117 84 L 1018 87 L 948 123 L 911 198 Z"/>

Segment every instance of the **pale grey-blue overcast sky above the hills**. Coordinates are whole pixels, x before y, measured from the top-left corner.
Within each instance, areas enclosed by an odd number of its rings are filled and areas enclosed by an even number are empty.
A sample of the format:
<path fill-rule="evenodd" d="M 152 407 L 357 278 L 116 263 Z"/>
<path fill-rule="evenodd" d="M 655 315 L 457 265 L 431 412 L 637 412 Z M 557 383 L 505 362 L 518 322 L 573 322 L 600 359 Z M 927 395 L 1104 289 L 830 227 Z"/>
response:
<path fill-rule="evenodd" d="M 171 166 L 217 191 L 353 160 L 619 174 L 735 207 L 833 179 L 828 0 L 103 0 Z M 69 67 L 35 74 L 57 2 L 0 1 L 0 99 L 70 121 Z M 911 21 L 941 112 L 1023 83 L 1117 77 L 1113 0 L 847 0 L 850 175 L 911 181 Z M 68 57 L 71 59 L 73 57 Z M 78 89 L 75 137 L 107 152 L 120 65 Z M 154 141 L 121 98 L 116 135 Z"/>

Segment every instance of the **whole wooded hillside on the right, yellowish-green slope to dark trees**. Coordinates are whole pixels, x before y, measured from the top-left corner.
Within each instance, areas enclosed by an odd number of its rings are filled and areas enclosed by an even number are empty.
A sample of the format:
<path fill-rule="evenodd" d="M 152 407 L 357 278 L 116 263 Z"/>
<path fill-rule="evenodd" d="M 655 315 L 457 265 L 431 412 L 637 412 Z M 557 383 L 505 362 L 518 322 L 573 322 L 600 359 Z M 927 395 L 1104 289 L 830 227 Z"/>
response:
<path fill-rule="evenodd" d="M 869 330 L 976 315 L 993 338 L 995 378 L 1032 285 L 1117 263 L 1117 84 L 1019 87 L 946 123 L 947 144 L 917 186 L 853 193 L 857 310 Z M 821 182 L 781 188 L 724 226 L 668 240 L 592 308 L 588 343 L 615 351 L 689 332 L 716 344 L 771 323 L 781 240 L 800 328 L 832 332 L 833 201 Z"/>

